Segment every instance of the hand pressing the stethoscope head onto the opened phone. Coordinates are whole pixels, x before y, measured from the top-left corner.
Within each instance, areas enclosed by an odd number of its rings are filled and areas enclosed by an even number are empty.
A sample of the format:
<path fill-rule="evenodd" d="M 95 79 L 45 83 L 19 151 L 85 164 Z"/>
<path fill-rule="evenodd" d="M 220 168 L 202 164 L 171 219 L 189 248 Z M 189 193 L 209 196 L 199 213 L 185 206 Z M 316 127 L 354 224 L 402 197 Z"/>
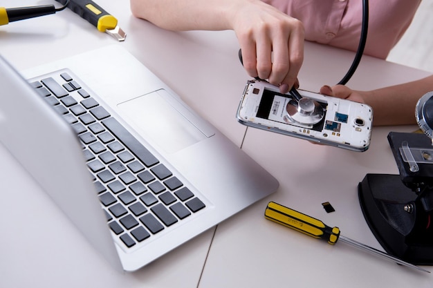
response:
<path fill-rule="evenodd" d="M 262 1 L 234 9 L 232 28 L 251 77 L 268 79 L 287 93 L 297 82 L 304 59 L 304 26 Z"/>

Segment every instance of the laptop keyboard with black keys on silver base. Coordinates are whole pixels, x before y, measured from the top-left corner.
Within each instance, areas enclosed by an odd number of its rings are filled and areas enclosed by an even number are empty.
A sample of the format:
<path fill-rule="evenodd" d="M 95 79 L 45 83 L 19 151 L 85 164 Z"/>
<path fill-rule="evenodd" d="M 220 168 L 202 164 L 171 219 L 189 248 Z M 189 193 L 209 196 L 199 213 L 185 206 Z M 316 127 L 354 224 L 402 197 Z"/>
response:
<path fill-rule="evenodd" d="M 30 84 L 80 138 L 109 227 L 125 247 L 146 242 L 205 208 L 71 75 L 59 76 Z"/>

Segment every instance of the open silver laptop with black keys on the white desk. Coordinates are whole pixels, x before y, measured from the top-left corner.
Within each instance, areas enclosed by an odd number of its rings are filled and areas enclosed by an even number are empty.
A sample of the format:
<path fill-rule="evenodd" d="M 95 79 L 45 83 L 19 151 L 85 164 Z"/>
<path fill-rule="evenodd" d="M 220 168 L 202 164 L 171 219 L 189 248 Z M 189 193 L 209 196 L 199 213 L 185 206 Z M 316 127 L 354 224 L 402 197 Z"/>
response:
<path fill-rule="evenodd" d="M 1 142 L 119 269 L 147 265 L 278 187 L 120 46 L 22 74 L 0 57 L 0 73 Z"/>

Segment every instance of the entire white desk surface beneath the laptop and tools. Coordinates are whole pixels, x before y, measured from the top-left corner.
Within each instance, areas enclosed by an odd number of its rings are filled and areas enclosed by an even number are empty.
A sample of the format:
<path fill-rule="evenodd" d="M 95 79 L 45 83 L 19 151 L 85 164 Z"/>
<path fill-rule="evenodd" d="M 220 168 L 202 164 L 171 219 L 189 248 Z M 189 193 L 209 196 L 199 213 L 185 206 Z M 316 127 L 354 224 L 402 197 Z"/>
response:
<path fill-rule="evenodd" d="M 121 45 L 240 146 L 246 128 L 234 115 L 248 77 L 237 59 L 234 33 L 169 32 L 133 18 L 127 2 L 98 3 L 127 32 Z M 0 7 L 33 4 L 0 0 Z M 69 10 L 0 27 L 0 53 L 19 70 L 115 42 Z M 302 88 L 317 91 L 322 84 L 336 83 L 352 58 L 351 52 L 306 44 Z M 424 75 L 365 58 L 349 84 L 369 89 Z M 134 273 L 113 271 L 0 146 L 0 183 L 6 197 L 0 209 L 0 287 L 430 287 L 427 273 L 344 244 L 331 247 L 263 217 L 266 203 L 275 200 L 380 248 L 360 212 L 356 185 L 366 173 L 397 173 L 385 137 L 389 131 L 375 128 L 369 151 L 353 153 L 248 129 L 243 149 L 277 177 L 279 191 L 219 224 L 215 236 L 210 229 Z M 334 213 L 324 213 L 325 201 L 335 207 Z M 30 227 L 24 227 L 26 222 Z M 330 284 L 323 284 L 325 280 Z"/>

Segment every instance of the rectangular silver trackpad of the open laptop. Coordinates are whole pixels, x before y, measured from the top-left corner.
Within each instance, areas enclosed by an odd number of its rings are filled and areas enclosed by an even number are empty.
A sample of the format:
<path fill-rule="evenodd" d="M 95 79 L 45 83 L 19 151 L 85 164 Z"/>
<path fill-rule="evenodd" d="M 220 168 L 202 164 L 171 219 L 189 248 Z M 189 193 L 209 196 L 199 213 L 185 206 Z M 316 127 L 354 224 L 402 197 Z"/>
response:
<path fill-rule="evenodd" d="M 118 108 L 132 128 L 167 153 L 214 135 L 209 124 L 163 89 L 120 103 Z"/>

